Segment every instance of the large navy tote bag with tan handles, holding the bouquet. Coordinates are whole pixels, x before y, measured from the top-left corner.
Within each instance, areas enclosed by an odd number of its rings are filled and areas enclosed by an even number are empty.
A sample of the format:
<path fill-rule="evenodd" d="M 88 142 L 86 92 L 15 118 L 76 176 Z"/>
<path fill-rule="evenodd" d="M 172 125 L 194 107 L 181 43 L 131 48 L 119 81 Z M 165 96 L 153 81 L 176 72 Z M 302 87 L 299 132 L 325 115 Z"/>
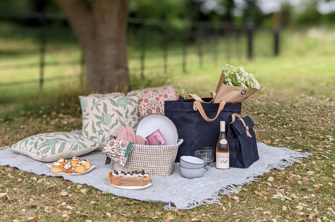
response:
<path fill-rule="evenodd" d="M 192 97 L 200 101 L 186 99 L 164 103 L 164 115 L 176 125 L 179 139 L 184 140 L 178 148 L 176 162 L 180 161 L 181 156 L 193 156 L 194 151 L 203 147 L 215 148 L 220 134 L 220 121 L 230 123 L 232 114 L 241 114 L 241 102 L 210 103 L 212 98 Z"/>

